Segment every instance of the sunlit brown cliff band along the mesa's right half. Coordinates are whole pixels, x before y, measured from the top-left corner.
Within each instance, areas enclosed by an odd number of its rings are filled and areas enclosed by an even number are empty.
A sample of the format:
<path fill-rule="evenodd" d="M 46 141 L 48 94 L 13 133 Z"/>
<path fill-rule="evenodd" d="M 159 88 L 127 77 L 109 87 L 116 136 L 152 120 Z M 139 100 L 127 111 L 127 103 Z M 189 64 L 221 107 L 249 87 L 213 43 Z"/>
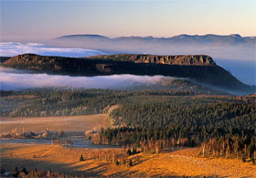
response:
<path fill-rule="evenodd" d="M 187 65 L 187 66 L 216 66 L 212 58 L 207 55 L 176 55 L 176 56 L 156 56 L 156 55 L 103 55 L 91 58 L 111 58 L 113 60 L 122 59 L 134 63 L 145 64 L 166 64 L 166 65 Z"/>

